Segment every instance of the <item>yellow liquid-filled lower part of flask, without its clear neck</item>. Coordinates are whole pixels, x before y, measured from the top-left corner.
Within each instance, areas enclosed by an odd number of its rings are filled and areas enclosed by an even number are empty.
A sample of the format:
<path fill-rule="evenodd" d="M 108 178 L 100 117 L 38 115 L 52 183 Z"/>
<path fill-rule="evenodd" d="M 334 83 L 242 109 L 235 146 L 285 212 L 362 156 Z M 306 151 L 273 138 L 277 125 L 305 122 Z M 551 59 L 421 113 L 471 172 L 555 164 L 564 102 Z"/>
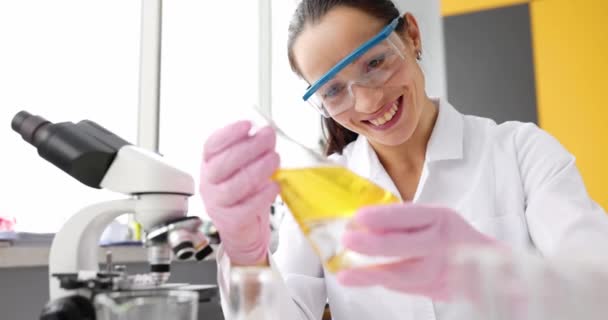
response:
<path fill-rule="evenodd" d="M 341 249 L 340 237 L 355 212 L 365 206 L 399 202 L 389 191 L 341 166 L 280 169 L 273 179 L 330 272 L 353 266 L 356 254 Z"/>

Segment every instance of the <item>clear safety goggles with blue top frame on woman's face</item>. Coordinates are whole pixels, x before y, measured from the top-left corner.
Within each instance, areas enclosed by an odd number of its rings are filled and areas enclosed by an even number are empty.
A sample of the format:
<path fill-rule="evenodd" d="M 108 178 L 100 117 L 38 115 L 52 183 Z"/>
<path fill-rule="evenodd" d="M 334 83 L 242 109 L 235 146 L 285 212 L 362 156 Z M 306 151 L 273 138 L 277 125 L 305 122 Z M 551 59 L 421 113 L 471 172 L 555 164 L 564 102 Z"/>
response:
<path fill-rule="evenodd" d="M 354 86 L 379 88 L 390 84 L 405 64 L 405 45 L 395 33 L 401 21 L 394 19 L 316 80 L 302 97 L 304 101 L 329 118 L 355 105 Z"/>

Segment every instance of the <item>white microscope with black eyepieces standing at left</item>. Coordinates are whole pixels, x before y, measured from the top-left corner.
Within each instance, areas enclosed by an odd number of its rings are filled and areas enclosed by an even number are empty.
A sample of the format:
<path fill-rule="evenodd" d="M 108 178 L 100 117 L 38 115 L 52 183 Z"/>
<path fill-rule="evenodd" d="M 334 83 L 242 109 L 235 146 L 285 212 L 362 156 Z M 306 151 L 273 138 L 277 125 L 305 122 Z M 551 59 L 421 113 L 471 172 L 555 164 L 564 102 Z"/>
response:
<path fill-rule="evenodd" d="M 54 124 L 21 111 L 12 128 L 42 158 L 81 183 L 128 196 L 82 209 L 56 234 L 49 259 L 50 302 L 40 319 L 95 319 L 91 301 L 96 294 L 163 290 L 172 259 L 200 261 L 212 252 L 200 231 L 201 220 L 186 216 L 188 198 L 194 193 L 192 177 L 160 155 L 88 120 Z M 99 270 L 101 234 L 127 213 L 134 213 L 145 232 L 149 273 L 128 275 L 124 268 L 112 269 L 110 261 Z M 216 289 L 207 287 L 204 294 L 215 295 Z"/>

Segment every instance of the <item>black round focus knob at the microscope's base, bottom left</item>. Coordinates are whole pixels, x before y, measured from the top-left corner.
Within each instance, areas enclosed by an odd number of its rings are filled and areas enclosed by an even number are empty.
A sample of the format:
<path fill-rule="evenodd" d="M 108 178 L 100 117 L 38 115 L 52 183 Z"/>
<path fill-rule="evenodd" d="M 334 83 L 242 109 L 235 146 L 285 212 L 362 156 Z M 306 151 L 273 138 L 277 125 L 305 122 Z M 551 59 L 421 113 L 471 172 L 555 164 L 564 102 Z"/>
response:
<path fill-rule="evenodd" d="M 42 310 L 40 320 L 95 320 L 93 303 L 79 295 L 50 301 Z"/>

